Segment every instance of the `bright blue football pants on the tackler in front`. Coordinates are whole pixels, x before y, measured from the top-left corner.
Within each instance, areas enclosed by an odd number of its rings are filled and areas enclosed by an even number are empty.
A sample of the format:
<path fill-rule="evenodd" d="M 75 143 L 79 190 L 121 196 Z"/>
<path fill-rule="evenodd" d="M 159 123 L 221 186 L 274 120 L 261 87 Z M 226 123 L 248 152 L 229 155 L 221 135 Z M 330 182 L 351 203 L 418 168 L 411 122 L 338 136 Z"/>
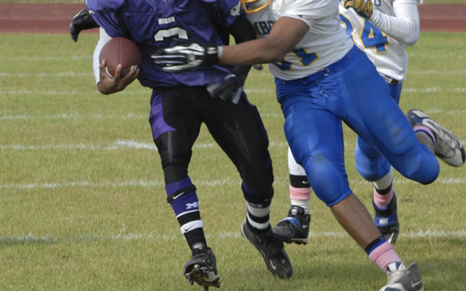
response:
<path fill-rule="evenodd" d="M 293 157 L 328 206 L 351 193 L 342 120 L 405 177 L 423 184 L 437 178 L 435 155 L 418 142 L 387 82 L 357 47 L 325 70 L 275 82 Z"/>

